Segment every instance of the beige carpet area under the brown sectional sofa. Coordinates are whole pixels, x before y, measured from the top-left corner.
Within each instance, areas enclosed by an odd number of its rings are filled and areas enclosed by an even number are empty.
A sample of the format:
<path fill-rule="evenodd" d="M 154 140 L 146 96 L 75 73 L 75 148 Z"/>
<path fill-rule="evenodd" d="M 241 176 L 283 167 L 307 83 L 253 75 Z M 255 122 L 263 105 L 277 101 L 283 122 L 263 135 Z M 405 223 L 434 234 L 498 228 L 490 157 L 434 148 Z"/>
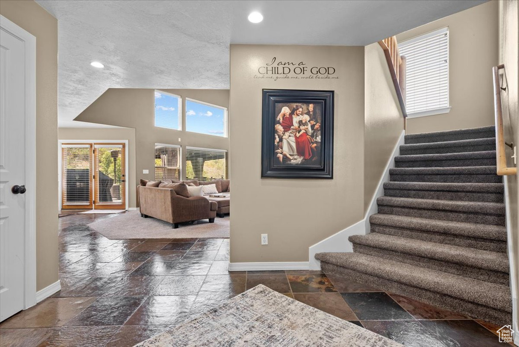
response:
<path fill-rule="evenodd" d="M 88 224 L 91 229 L 110 239 L 128 238 L 192 238 L 229 237 L 229 216 L 199 220 L 194 224 L 181 223 L 173 229 L 170 223 L 155 218 L 142 218 L 139 211 L 128 211 Z"/>

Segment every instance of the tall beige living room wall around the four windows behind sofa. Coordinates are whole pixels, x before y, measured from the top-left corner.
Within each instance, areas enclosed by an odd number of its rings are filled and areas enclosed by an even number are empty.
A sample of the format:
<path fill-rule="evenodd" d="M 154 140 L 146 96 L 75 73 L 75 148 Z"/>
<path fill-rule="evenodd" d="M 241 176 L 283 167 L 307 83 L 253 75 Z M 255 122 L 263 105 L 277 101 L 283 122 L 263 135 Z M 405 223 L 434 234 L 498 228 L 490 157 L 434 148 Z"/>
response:
<path fill-rule="evenodd" d="M 181 96 L 182 110 L 185 110 L 185 98 L 229 108 L 228 89 L 160 90 Z M 136 182 L 139 182 L 141 178 L 154 179 L 155 143 L 182 145 L 182 163 L 185 163 L 186 146 L 229 150 L 229 138 L 155 127 L 154 112 L 154 89 L 111 88 L 81 112 L 75 120 L 135 129 L 134 172 Z M 182 113 L 182 124 L 185 124 L 185 112 Z M 228 117 L 228 123 L 230 123 L 230 112 Z M 149 174 L 143 174 L 143 169 L 149 170 Z M 182 175 L 185 177 L 184 168 Z"/>

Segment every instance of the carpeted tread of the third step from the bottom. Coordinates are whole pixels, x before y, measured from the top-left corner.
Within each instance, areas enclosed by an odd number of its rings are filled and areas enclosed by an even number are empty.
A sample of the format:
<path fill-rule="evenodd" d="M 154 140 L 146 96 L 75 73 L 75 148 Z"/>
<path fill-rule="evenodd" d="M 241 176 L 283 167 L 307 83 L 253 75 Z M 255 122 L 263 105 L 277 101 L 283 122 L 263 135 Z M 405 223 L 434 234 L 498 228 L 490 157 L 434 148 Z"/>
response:
<path fill-rule="evenodd" d="M 467 236 L 474 238 L 507 241 L 507 230 L 501 225 L 452 222 L 436 219 L 385 215 L 376 213 L 370 217 L 370 223 L 423 232 Z"/>

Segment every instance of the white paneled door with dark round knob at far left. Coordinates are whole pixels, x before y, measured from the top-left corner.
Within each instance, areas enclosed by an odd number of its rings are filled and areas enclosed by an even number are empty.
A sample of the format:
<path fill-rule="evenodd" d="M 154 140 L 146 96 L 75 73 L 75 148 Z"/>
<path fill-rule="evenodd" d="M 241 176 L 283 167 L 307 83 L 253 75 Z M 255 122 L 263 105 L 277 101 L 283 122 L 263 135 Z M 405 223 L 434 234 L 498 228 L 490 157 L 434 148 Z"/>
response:
<path fill-rule="evenodd" d="M 0 28 L 0 321 L 24 309 L 25 43 Z"/>

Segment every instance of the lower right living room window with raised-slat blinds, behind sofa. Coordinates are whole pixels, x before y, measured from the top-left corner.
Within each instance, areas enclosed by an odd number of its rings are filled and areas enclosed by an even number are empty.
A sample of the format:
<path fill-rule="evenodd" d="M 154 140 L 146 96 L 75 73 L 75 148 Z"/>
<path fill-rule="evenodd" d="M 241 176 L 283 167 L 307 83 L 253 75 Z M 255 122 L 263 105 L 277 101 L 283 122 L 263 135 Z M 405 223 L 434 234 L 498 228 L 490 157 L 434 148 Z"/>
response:
<path fill-rule="evenodd" d="M 186 178 L 199 181 L 227 179 L 227 151 L 187 147 Z"/>

